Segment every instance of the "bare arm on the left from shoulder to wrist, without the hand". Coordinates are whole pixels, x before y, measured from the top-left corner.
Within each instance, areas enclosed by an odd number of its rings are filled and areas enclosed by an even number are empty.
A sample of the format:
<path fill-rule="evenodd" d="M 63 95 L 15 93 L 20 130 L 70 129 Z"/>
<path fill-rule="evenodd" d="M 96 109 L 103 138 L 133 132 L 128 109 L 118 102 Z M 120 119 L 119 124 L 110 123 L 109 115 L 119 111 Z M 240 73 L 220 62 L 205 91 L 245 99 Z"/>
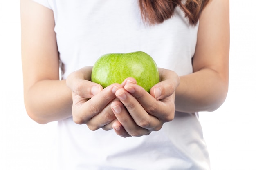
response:
<path fill-rule="evenodd" d="M 20 1 L 24 101 L 36 122 L 71 116 L 72 95 L 59 80 L 59 57 L 52 10 L 31 0 Z"/>

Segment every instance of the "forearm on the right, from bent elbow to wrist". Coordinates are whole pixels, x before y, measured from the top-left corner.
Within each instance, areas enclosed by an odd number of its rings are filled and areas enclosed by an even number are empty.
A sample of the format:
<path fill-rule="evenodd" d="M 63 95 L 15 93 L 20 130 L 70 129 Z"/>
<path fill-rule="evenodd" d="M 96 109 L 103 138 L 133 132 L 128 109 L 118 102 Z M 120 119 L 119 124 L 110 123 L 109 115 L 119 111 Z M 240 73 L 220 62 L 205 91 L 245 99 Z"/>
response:
<path fill-rule="evenodd" d="M 181 112 L 214 111 L 225 101 L 228 78 L 216 71 L 202 69 L 181 76 L 175 91 L 175 110 Z"/>

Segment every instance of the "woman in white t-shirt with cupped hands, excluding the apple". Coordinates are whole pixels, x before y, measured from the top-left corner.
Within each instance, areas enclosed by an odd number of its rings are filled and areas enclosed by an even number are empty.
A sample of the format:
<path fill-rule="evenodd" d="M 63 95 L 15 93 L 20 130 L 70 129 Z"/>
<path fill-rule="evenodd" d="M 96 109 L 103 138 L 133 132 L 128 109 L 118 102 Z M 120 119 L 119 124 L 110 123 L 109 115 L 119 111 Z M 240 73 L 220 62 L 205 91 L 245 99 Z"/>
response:
<path fill-rule="evenodd" d="M 227 95 L 228 0 L 21 0 L 21 23 L 26 110 L 58 121 L 59 169 L 210 169 L 198 112 Z M 150 93 L 90 81 L 98 57 L 133 51 L 159 66 Z"/>

